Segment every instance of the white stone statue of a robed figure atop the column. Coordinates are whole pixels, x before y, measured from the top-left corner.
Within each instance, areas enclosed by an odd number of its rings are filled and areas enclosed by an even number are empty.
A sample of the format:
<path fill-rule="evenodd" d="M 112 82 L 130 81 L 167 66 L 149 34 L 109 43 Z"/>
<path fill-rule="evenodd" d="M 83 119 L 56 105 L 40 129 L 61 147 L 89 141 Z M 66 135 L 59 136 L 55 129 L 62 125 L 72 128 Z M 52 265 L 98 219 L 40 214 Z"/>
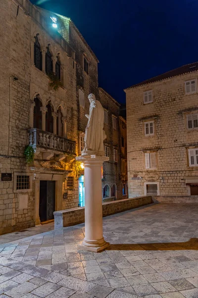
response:
<path fill-rule="evenodd" d="M 89 120 L 85 130 L 85 148 L 81 155 L 104 155 L 103 140 L 106 134 L 103 130 L 104 110 L 94 94 L 88 96 L 90 101 L 90 114 L 85 115 Z"/>

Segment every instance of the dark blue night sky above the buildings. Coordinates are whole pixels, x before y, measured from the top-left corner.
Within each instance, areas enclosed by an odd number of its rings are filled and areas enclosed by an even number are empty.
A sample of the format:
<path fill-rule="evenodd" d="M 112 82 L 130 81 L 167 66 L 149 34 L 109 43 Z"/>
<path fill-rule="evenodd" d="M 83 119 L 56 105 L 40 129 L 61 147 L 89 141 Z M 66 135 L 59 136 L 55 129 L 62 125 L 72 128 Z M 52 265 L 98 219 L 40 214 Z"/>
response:
<path fill-rule="evenodd" d="M 31 0 L 37 3 L 38 0 Z M 70 17 L 99 59 L 99 86 L 124 88 L 198 61 L 198 0 L 46 0 Z"/>

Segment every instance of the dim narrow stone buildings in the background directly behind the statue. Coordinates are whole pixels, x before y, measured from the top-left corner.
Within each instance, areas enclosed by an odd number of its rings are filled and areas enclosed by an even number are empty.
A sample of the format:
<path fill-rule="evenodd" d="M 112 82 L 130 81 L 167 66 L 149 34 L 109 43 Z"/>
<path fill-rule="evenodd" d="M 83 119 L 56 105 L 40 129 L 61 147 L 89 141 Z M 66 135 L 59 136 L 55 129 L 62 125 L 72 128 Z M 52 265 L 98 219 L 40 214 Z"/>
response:
<path fill-rule="evenodd" d="M 120 104 L 99 88 L 99 100 L 104 109 L 105 155 L 103 163 L 103 201 L 127 198 L 126 120 L 120 116 Z"/>

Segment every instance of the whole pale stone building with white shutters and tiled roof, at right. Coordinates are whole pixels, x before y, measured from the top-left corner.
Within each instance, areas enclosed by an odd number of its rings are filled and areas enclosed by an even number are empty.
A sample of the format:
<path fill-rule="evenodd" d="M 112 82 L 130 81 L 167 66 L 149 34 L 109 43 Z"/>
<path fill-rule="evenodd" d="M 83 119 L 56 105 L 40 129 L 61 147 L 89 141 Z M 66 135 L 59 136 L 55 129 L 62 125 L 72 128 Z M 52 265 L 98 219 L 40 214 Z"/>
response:
<path fill-rule="evenodd" d="M 198 196 L 198 63 L 125 92 L 129 197 Z"/>

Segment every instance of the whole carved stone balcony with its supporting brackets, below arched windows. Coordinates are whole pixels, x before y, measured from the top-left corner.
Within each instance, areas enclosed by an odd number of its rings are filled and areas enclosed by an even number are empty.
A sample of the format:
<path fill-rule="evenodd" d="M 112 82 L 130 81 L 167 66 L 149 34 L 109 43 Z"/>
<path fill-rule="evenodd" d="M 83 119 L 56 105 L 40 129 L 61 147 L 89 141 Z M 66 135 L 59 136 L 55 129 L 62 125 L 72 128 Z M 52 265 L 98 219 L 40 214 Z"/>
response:
<path fill-rule="evenodd" d="M 59 137 L 52 133 L 32 128 L 28 130 L 29 145 L 32 146 L 36 155 L 43 152 L 43 159 L 50 159 L 54 154 L 76 155 L 76 142 Z M 64 156 L 65 155 L 61 155 Z"/>

